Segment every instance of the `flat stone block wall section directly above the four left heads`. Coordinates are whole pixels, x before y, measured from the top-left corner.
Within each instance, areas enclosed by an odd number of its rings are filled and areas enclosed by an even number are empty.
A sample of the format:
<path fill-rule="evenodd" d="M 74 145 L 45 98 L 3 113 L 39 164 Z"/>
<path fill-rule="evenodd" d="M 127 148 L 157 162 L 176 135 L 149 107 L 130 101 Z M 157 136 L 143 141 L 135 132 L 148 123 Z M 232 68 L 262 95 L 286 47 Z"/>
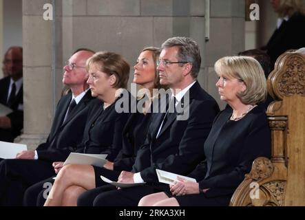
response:
<path fill-rule="evenodd" d="M 109 50 L 133 66 L 145 46 L 191 36 L 204 48 L 202 0 L 90 0 L 63 3 L 63 57 L 79 47 Z M 133 70 L 129 83 L 132 82 Z"/>

